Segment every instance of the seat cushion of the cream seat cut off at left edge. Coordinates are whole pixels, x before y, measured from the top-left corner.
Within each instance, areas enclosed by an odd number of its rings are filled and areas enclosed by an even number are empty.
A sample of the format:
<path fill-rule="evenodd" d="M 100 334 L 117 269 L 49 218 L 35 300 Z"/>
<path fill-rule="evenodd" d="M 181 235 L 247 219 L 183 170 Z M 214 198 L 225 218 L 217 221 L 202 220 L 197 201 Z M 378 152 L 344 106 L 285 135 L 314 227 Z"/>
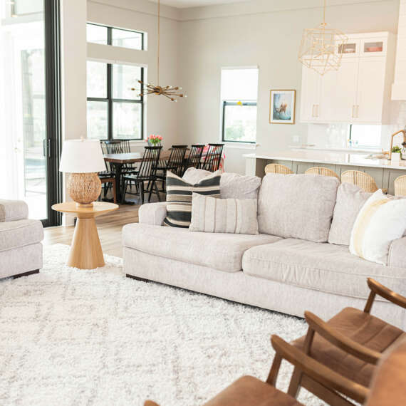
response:
<path fill-rule="evenodd" d="M 39 220 L 0 222 L 0 251 L 36 244 L 43 240 L 43 227 Z"/>

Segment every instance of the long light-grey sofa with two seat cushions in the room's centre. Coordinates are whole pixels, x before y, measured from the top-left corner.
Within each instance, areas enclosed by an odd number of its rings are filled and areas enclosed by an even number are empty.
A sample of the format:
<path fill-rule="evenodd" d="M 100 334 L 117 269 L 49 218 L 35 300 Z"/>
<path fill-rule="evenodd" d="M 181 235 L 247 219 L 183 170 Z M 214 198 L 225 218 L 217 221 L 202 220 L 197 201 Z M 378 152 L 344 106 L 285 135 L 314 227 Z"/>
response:
<path fill-rule="evenodd" d="M 368 276 L 405 295 L 406 238 L 392 242 L 389 266 L 328 244 L 338 181 L 288 177 L 264 177 L 258 235 L 162 227 L 165 202 L 142 205 L 140 222 L 123 228 L 125 274 L 294 316 L 308 310 L 325 319 L 347 306 L 363 308 Z M 405 311 L 377 299 L 373 314 L 405 328 Z"/>

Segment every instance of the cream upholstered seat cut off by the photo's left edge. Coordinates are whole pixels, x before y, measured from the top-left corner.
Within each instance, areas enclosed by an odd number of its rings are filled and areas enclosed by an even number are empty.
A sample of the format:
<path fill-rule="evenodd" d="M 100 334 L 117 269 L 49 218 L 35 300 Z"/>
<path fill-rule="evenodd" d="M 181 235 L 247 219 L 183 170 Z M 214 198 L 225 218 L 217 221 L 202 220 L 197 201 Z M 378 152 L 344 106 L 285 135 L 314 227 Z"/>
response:
<path fill-rule="evenodd" d="M 42 223 L 28 219 L 25 202 L 0 199 L 0 279 L 38 273 L 42 240 Z"/>

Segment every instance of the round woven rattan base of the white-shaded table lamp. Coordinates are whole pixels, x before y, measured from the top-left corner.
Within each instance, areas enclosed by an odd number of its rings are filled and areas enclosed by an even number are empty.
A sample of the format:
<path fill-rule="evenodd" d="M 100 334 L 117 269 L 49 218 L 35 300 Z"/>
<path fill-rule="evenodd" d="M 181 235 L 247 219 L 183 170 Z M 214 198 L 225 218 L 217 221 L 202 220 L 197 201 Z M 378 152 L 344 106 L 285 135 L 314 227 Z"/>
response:
<path fill-rule="evenodd" d="M 93 207 L 101 192 L 101 182 L 97 172 L 71 173 L 68 192 L 78 207 Z"/>

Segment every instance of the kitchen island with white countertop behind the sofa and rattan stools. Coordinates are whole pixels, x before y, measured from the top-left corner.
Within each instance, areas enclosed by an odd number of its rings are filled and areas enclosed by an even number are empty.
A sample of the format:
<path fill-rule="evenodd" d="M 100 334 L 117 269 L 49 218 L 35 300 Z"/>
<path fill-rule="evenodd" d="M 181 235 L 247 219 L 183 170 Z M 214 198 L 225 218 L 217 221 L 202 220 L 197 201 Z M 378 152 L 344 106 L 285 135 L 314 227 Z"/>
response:
<path fill-rule="evenodd" d="M 304 173 L 310 167 L 328 167 L 338 176 L 346 170 L 360 170 L 371 175 L 378 187 L 394 194 L 393 181 L 400 175 L 406 175 L 406 161 L 391 162 L 386 159 L 369 159 L 367 156 L 365 152 L 360 154 L 323 150 L 287 150 L 269 155 L 244 155 L 246 175 L 264 177 L 264 169 L 271 163 L 286 165 L 293 173 Z"/>

